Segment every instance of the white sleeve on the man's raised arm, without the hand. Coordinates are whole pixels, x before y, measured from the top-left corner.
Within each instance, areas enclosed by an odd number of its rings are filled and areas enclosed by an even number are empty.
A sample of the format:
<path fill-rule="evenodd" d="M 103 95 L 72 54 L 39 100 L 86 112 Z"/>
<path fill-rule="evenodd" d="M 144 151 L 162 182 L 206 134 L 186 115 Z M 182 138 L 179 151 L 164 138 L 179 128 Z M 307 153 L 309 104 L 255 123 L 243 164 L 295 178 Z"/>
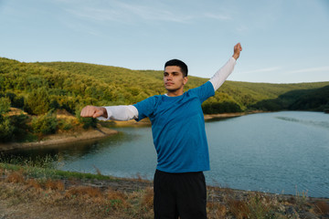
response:
<path fill-rule="evenodd" d="M 228 62 L 209 79 L 215 90 L 219 89 L 228 76 L 233 72 L 236 62 L 237 61 L 234 57 L 230 57 Z"/>

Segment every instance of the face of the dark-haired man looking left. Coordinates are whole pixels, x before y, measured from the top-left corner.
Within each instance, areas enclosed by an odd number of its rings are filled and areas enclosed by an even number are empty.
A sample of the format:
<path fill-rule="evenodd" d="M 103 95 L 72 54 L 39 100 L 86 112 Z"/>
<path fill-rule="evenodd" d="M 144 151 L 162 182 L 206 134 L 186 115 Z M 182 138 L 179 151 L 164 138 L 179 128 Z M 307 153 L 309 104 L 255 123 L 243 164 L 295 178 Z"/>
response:
<path fill-rule="evenodd" d="M 168 90 L 168 93 L 178 91 L 179 95 L 181 95 L 186 82 L 187 77 L 183 76 L 181 68 L 176 66 L 164 68 L 164 88 Z"/>

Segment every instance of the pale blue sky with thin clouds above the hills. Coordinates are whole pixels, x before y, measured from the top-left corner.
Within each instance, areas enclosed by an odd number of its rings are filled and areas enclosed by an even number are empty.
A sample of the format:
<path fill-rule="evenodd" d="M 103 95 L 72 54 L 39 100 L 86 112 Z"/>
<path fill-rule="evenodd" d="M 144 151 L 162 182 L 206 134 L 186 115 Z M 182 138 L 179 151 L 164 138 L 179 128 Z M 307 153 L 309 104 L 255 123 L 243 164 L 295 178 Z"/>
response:
<path fill-rule="evenodd" d="M 329 0 L 0 0 L 0 57 L 211 78 L 241 43 L 229 80 L 329 81 Z"/>

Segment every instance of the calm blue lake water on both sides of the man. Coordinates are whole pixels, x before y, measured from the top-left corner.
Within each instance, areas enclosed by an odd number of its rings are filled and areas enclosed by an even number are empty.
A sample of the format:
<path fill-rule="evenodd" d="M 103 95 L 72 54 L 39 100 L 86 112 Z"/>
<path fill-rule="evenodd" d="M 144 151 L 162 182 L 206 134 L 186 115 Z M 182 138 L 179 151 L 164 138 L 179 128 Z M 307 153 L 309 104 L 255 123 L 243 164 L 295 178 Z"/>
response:
<path fill-rule="evenodd" d="M 150 127 L 118 128 L 106 141 L 30 150 L 57 154 L 58 169 L 153 179 Z M 329 197 L 329 114 L 283 111 L 206 123 L 207 184 L 269 193 Z"/>

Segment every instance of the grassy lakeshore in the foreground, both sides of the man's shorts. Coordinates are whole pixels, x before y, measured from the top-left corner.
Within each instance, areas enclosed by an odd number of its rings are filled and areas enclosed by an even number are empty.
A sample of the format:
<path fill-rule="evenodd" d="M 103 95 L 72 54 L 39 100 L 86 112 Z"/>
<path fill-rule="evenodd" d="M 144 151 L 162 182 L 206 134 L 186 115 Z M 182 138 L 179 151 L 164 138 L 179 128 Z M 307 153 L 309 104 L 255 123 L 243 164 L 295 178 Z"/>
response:
<path fill-rule="evenodd" d="M 104 176 L 99 170 L 97 174 L 63 172 L 25 163 L 0 163 L 0 218 L 154 218 L 151 182 Z M 328 218 L 328 201 L 312 200 L 306 193 L 283 196 L 207 188 L 209 219 L 284 219 L 305 214 Z"/>

